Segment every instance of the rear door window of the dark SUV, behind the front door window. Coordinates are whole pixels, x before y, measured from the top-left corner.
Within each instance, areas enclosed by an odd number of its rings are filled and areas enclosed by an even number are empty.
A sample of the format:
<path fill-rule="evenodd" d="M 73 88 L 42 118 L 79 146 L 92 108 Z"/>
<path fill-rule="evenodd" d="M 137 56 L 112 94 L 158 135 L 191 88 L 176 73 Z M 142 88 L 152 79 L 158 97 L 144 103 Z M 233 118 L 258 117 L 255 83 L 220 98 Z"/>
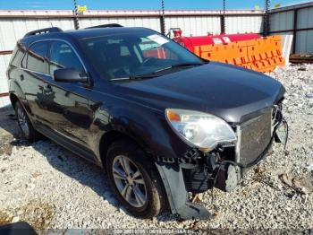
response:
<path fill-rule="evenodd" d="M 21 61 L 21 66 L 31 71 L 47 74 L 47 42 L 37 42 L 30 46 Z"/>

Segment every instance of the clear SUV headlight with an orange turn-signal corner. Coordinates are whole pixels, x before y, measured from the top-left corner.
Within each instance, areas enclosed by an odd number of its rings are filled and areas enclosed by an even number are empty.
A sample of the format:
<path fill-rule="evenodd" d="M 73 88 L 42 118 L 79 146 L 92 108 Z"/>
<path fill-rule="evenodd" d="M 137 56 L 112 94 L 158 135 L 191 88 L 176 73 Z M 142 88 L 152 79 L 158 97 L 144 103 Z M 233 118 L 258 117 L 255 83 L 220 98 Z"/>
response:
<path fill-rule="evenodd" d="M 211 151 L 217 144 L 237 140 L 231 126 L 220 117 L 184 109 L 166 109 L 165 115 L 178 135 L 200 149 Z"/>

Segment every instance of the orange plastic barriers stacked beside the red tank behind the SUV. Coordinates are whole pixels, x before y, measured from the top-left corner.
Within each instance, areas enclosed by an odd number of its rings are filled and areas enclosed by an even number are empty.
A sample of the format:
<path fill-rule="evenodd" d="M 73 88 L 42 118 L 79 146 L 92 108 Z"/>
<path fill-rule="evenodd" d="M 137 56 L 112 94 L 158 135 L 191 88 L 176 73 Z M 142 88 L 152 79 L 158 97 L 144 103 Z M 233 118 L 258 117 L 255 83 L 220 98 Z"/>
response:
<path fill-rule="evenodd" d="M 239 65 L 258 72 L 272 72 L 277 65 L 284 65 L 281 36 L 250 39 L 194 47 L 194 53 L 202 58 Z"/>

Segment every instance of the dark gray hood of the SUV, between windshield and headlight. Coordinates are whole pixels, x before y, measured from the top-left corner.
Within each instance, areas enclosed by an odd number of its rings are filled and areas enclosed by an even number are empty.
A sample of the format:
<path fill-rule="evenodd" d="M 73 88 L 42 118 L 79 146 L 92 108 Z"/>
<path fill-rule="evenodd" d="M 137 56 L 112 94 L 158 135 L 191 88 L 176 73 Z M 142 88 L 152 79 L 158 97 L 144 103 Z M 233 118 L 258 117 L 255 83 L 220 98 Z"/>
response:
<path fill-rule="evenodd" d="M 121 95 L 153 109 L 191 109 L 241 123 L 283 98 L 275 79 L 241 67 L 210 62 L 153 79 L 117 83 Z"/>

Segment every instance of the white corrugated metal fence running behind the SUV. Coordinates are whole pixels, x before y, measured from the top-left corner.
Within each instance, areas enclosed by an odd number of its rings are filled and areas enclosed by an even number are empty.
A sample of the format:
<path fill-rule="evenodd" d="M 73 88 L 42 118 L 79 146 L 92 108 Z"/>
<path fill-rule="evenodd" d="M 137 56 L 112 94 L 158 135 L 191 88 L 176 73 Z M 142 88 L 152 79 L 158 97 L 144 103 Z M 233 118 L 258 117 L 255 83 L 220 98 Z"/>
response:
<path fill-rule="evenodd" d="M 180 27 L 184 35 L 206 35 L 221 32 L 222 11 L 165 11 L 165 28 Z M 226 11 L 227 33 L 260 32 L 262 11 Z M 79 16 L 80 28 L 120 23 L 160 31 L 160 11 L 86 11 Z M 72 11 L 0 11 L 0 107 L 9 103 L 5 70 L 15 43 L 28 31 L 51 26 L 74 29 Z"/>

